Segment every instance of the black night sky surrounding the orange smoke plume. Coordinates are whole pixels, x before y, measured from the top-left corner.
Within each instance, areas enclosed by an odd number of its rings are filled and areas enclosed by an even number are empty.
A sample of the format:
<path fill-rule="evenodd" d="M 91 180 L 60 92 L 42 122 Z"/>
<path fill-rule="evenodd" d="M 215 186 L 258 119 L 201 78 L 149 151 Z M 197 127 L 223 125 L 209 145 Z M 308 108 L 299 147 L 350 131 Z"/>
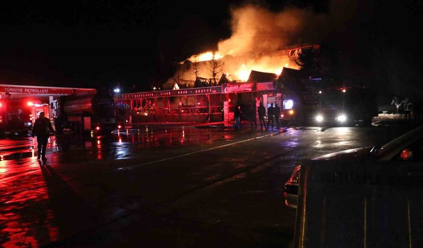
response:
<path fill-rule="evenodd" d="M 340 1 L 339 1 L 340 2 Z M 2 3 L 0 82 L 148 90 L 172 62 L 216 49 L 231 36 L 230 8 L 245 1 L 69 1 Z M 320 37 L 351 58 L 374 87 L 412 93 L 421 85 L 419 1 L 248 1 L 337 13 Z M 336 16 L 341 18 L 337 20 Z M 395 90 L 402 83 L 407 90 Z"/>

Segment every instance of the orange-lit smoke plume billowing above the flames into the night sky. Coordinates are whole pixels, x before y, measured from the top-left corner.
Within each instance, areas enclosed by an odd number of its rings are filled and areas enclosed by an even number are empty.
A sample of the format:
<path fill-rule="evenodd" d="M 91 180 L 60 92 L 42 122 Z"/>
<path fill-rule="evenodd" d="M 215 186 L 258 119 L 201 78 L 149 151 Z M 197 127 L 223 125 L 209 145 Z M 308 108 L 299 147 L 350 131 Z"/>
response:
<path fill-rule="evenodd" d="M 289 8 L 273 13 L 256 5 L 232 10 L 232 36 L 218 44 L 222 56 L 272 52 L 289 45 L 314 42 L 314 28 L 324 16 L 310 9 Z"/>

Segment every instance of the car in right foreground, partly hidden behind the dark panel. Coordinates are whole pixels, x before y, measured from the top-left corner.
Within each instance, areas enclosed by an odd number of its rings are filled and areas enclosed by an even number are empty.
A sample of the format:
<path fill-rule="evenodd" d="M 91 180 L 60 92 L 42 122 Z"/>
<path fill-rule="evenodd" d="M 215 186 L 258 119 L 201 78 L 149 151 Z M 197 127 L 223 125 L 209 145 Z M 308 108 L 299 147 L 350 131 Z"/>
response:
<path fill-rule="evenodd" d="M 368 146 L 349 149 L 328 155 L 319 156 L 312 160 L 363 161 L 377 160 L 389 164 L 398 160 L 423 161 L 423 125 L 383 146 Z M 283 195 L 285 205 L 297 208 L 298 187 L 301 177 L 301 164 L 294 168 L 290 178 L 285 183 Z"/>

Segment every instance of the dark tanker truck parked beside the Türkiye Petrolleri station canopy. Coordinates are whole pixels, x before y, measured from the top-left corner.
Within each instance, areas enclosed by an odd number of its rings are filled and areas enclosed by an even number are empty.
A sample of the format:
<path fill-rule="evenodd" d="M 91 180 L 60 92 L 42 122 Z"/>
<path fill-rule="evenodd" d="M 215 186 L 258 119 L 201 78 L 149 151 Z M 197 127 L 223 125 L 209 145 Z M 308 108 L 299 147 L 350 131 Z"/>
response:
<path fill-rule="evenodd" d="M 106 91 L 60 96 L 56 108 L 58 133 L 67 129 L 78 133 L 110 134 L 124 124 L 119 123 L 113 96 Z"/>

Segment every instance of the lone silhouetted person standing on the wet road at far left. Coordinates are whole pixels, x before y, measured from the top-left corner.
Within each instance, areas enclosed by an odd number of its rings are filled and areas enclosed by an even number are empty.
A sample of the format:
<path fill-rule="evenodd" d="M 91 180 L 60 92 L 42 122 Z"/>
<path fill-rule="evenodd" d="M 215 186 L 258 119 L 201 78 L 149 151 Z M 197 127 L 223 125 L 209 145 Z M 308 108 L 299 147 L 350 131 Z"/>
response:
<path fill-rule="evenodd" d="M 37 159 L 46 159 L 46 147 L 50 132 L 54 132 L 53 126 L 48 118 L 45 117 L 44 112 L 40 112 L 40 117 L 35 120 L 32 127 L 32 137 L 37 136 L 38 156 Z"/>

